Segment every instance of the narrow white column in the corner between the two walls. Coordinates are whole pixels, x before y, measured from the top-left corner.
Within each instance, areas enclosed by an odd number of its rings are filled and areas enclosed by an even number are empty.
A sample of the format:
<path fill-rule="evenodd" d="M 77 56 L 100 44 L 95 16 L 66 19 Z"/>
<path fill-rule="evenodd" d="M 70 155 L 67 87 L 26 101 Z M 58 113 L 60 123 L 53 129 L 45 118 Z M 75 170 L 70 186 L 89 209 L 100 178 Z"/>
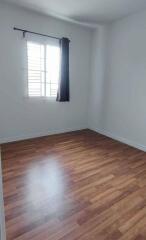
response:
<path fill-rule="evenodd" d="M 88 109 L 88 126 L 99 129 L 104 126 L 104 85 L 106 74 L 108 27 L 100 26 L 92 38 L 91 81 Z"/>

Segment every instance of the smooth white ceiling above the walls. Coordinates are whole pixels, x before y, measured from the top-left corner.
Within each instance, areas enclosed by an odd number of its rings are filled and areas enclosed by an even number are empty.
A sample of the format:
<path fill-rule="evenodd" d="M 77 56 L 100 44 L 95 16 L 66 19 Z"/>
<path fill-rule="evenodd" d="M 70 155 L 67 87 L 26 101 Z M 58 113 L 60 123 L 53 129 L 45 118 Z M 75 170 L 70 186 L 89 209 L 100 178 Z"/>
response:
<path fill-rule="evenodd" d="M 146 8 L 146 0 L 0 0 L 55 17 L 98 24 L 123 18 Z"/>

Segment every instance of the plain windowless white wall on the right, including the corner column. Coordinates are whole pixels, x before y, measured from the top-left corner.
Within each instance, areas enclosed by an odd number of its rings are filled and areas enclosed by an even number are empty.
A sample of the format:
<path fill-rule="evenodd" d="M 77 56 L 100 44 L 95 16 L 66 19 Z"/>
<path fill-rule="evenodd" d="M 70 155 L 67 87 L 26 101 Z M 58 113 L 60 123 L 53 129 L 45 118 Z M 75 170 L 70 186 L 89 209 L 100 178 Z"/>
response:
<path fill-rule="evenodd" d="M 101 37 L 104 40 L 97 41 L 98 57 L 94 58 L 96 90 L 89 125 L 146 150 L 146 12 L 111 24 L 106 34 L 98 31 L 96 39 Z"/>

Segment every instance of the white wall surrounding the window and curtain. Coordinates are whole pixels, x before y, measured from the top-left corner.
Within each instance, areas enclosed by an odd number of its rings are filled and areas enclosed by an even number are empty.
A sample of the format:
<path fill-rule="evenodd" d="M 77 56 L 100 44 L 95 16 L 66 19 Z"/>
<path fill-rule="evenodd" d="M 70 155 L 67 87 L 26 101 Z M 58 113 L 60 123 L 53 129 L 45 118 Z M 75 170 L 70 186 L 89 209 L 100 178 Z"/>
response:
<path fill-rule="evenodd" d="M 14 26 L 71 39 L 69 103 L 25 97 L 24 41 Z M 87 127 L 91 37 L 89 28 L 0 5 L 0 143 Z"/>

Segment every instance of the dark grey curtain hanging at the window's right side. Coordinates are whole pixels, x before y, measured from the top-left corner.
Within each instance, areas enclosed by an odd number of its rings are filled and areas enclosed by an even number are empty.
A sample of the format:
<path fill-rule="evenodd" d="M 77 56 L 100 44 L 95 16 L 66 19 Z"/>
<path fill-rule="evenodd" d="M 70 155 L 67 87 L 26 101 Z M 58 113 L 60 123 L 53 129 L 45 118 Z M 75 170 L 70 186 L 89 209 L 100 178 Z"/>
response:
<path fill-rule="evenodd" d="M 58 102 L 69 102 L 69 42 L 68 38 L 60 39 L 61 49 L 61 69 L 60 69 L 60 81 L 57 93 Z"/>

